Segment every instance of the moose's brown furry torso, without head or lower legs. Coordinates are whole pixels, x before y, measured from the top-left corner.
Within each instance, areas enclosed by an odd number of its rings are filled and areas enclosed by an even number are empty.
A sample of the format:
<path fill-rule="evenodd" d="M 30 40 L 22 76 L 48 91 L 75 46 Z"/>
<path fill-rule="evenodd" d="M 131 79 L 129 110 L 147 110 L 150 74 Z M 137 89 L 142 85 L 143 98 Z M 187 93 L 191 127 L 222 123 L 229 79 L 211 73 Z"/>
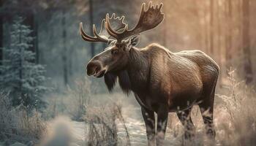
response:
<path fill-rule="evenodd" d="M 119 85 L 124 91 L 150 95 L 151 98 L 156 95 L 157 102 L 161 100 L 170 112 L 176 112 L 177 109 L 186 109 L 187 105 L 174 101 L 191 101 L 192 104 L 203 99 L 204 90 L 212 88 L 211 84 L 217 81 L 219 66 L 200 50 L 172 53 L 153 44 L 141 50 L 132 47 L 127 69 L 112 74 L 118 74 L 116 77 L 119 77 Z M 116 80 L 105 82 L 112 89 Z M 178 99 L 181 95 L 182 99 Z M 156 112 L 157 108 L 151 107 L 154 99 L 150 102 L 145 103 L 146 107 Z"/>

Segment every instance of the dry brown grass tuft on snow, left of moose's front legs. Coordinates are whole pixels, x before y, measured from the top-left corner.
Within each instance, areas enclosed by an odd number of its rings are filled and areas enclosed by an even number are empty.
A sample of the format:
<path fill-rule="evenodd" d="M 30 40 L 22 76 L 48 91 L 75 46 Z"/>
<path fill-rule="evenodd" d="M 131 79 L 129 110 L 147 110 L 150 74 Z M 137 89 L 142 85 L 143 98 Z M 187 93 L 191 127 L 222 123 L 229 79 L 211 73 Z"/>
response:
<path fill-rule="evenodd" d="M 130 145 L 129 133 L 121 115 L 118 104 L 105 104 L 100 107 L 89 107 L 86 121 L 89 123 L 88 145 Z M 118 137 L 116 120 L 122 123 L 127 137 Z"/>

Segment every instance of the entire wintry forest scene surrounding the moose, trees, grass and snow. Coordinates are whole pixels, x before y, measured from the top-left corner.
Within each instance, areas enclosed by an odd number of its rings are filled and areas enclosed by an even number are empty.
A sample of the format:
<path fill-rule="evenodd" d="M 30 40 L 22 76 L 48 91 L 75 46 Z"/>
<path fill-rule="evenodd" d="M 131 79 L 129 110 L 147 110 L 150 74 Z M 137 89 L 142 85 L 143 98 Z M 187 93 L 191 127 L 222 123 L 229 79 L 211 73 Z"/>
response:
<path fill-rule="evenodd" d="M 201 50 L 219 65 L 214 100 L 216 138 L 192 109 L 195 137 L 184 139 L 168 115 L 165 145 L 256 145 L 256 1 L 151 0 L 165 18 L 140 35 L 176 53 Z M 129 28 L 149 0 L 0 0 L 0 146 L 147 145 L 140 105 L 116 85 L 89 77 L 86 65 L 106 43 L 85 42 L 106 14 Z M 176 71 L 173 71 L 176 72 Z M 189 74 L 188 74 L 189 75 Z"/>

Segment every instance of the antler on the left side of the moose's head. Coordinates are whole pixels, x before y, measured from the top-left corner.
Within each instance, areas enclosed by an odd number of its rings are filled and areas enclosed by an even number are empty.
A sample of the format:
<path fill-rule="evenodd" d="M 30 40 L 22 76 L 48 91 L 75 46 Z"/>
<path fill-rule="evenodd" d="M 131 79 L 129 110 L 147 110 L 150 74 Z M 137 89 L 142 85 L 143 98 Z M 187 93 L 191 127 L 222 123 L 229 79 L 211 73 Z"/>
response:
<path fill-rule="evenodd" d="M 108 18 L 109 18 L 109 15 L 108 15 Z M 124 16 L 122 16 L 121 18 L 119 18 L 119 17 L 116 18 L 116 14 L 113 13 L 113 15 L 111 16 L 111 18 L 109 18 L 109 20 L 111 20 L 111 21 L 113 21 L 113 23 L 115 23 L 115 28 L 113 28 L 113 29 L 116 31 L 120 31 L 121 29 L 123 29 L 125 27 Z M 102 20 L 100 31 L 99 31 L 99 33 L 97 33 L 96 27 L 95 27 L 95 25 L 93 25 L 94 37 L 91 37 L 88 34 L 86 34 L 85 31 L 83 31 L 83 23 L 80 23 L 80 34 L 85 41 L 108 42 L 109 39 L 108 39 L 108 37 L 105 36 L 103 26 L 105 26 L 105 19 Z"/>

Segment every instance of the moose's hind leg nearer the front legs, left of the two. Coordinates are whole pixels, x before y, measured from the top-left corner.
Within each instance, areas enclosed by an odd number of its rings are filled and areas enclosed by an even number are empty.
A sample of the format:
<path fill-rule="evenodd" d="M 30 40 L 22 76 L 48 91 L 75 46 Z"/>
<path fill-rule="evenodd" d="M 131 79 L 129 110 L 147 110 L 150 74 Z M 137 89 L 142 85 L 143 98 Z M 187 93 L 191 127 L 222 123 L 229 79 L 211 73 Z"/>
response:
<path fill-rule="evenodd" d="M 195 126 L 190 116 L 191 110 L 192 109 L 190 108 L 188 110 L 177 112 L 178 119 L 181 121 L 182 125 L 185 128 L 185 139 L 191 139 L 195 135 Z"/>

